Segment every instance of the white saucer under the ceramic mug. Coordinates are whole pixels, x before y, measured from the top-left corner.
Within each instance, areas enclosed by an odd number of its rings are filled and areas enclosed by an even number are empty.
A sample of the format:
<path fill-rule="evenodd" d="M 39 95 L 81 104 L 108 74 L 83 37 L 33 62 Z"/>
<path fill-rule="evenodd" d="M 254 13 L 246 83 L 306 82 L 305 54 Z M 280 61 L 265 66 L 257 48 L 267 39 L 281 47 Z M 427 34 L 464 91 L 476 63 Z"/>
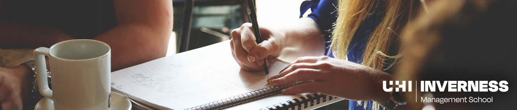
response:
<path fill-rule="evenodd" d="M 34 110 L 53 110 L 54 101 L 48 98 L 41 99 Z M 131 109 L 131 101 L 120 93 L 111 91 L 111 107 L 110 109 Z"/>

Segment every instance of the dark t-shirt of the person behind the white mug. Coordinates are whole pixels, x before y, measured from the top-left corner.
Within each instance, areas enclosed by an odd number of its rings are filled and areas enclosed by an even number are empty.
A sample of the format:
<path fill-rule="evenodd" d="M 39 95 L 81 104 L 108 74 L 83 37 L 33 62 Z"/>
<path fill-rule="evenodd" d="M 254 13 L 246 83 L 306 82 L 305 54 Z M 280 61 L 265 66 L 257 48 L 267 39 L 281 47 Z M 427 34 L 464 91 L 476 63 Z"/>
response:
<path fill-rule="evenodd" d="M 92 39 L 116 26 L 110 0 L 3 0 L 0 21 L 55 27 L 75 39 Z"/>

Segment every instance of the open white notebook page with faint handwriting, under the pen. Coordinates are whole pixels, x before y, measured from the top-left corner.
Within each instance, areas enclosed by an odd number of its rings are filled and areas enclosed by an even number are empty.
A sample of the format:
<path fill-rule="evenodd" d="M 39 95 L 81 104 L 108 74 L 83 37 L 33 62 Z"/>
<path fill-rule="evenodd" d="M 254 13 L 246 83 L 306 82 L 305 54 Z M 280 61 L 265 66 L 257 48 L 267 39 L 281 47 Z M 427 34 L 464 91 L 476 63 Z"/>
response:
<path fill-rule="evenodd" d="M 270 86 L 266 79 L 287 66 L 271 63 L 268 75 L 241 70 L 225 41 L 112 72 L 112 87 L 155 108 L 185 109 Z"/>

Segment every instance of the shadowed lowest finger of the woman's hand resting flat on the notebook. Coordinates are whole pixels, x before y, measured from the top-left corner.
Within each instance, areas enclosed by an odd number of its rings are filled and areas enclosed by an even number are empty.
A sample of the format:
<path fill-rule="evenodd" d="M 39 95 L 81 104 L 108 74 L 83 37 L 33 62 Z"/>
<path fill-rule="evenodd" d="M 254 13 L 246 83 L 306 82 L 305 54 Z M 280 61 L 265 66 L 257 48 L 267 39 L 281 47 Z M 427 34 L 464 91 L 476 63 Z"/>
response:
<path fill-rule="evenodd" d="M 294 95 L 298 93 L 318 93 L 323 89 L 324 84 L 322 82 L 307 82 L 298 85 L 294 85 L 282 90 L 284 95 Z"/>

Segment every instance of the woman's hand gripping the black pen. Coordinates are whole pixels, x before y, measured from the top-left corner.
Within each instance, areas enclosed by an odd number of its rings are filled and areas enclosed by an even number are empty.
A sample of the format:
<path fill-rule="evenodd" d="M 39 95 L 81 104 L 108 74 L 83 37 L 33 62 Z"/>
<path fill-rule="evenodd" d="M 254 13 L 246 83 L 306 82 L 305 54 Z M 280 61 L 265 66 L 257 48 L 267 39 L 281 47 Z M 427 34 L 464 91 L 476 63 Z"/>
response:
<path fill-rule="evenodd" d="M 244 23 L 232 30 L 230 46 L 232 56 L 246 71 L 263 71 L 265 57 L 278 56 L 283 49 L 285 34 L 267 27 L 260 27 L 263 42 L 257 44 L 251 23 Z"/>

